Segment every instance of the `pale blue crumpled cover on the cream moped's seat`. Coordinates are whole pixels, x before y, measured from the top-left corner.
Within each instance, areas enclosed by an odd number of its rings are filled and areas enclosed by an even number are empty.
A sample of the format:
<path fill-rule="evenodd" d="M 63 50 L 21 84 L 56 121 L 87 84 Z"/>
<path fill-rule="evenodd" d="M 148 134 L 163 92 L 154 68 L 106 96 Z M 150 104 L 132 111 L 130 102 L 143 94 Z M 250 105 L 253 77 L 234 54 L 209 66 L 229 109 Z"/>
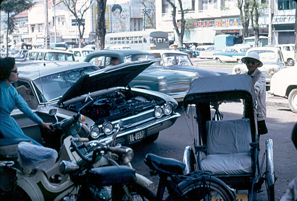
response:
<path fill-rule="evenodd" d="M 17 161 L 23 168 L 48 170 L 54 166 L 58 153 L 55 149 L 34 145 L 28 142 L 18 144 Z"/>

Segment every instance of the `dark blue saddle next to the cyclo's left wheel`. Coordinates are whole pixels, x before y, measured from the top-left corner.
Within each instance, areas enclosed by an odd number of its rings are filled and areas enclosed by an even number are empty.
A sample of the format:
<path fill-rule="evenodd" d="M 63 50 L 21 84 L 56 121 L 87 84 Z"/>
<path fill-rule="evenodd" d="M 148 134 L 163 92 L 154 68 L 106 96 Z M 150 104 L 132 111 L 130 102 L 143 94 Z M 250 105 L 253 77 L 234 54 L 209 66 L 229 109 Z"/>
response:
<path fill-rule="evenodd" d="M 183 175 L 185 164 L 173 159 L 163 158 L 155 154 L 147 154 L 144 162 L 151 170 L 157 170 L 166 174 L 178 174 Z"/>

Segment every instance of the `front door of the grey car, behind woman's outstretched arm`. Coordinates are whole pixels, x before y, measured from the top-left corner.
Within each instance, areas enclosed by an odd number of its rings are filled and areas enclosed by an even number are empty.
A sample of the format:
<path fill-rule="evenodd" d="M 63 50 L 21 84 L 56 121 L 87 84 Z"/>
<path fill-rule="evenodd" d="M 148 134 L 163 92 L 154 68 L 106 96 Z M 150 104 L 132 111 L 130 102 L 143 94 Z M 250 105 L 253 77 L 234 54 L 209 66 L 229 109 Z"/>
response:
<path fill-rule="evenodd" d="M 17 82 L 13 82 L 12 85 L 28 103 L 28 106 L 32 109 L 32 111 L 36 113 L 38 102 L 30 83 L 28 81 L 19 79 Z M 10 116 L 15 119 L 17 124 L 23 130 L 24 134 L 40 143 L 42 142 L 40 127 L 38 124 L 27 118 L 18 108 L 14 108 Z"/>

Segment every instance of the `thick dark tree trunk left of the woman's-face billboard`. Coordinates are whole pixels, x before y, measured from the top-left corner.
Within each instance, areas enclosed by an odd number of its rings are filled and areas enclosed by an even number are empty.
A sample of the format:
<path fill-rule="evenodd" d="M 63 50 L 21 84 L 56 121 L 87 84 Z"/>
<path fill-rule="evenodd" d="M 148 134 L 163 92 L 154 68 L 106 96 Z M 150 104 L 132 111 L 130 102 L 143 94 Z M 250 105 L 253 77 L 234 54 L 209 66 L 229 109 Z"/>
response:
<path fill-rule="evenodd" d="M 95 50 L 103 50 L 105 45 L 105 9 L 107 0 L 97 0 L 97 24 Z"/>

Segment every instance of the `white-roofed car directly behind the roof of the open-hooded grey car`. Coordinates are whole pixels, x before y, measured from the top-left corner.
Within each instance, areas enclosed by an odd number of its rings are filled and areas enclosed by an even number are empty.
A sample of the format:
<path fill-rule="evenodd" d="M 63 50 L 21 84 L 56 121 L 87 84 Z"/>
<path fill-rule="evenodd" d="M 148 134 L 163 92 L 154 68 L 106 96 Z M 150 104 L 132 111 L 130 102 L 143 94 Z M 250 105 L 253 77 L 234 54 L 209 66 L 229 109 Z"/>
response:
<path fill-rule="evenodd" d="M 62 50 L 35 49 L 29 50 L 27 61 L 50 60 L 50 61 L 75 61 L 74 54 Z"/>

